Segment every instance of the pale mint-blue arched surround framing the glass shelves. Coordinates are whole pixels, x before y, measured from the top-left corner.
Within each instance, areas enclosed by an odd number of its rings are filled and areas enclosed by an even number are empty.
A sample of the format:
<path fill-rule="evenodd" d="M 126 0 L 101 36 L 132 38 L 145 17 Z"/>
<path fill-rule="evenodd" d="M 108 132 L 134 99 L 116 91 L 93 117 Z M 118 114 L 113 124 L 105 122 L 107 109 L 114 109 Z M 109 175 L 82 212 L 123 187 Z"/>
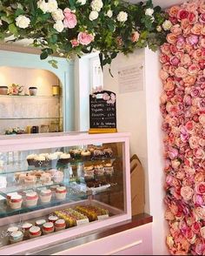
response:
<path fill-rule="evenodd" d="M 48 63 L 56 59 L 58 68 Z M 74 124 L 74 63 L 62 57 L 49 57 L 41 60 L 39 55 L 15 51 L 0 51 L 0 66 L 43 69 L 56 75 L 63 85 L 63 128 L 64 131 L 75 131 Z M 22 74 L 23 76 L 23 74 Z"/>

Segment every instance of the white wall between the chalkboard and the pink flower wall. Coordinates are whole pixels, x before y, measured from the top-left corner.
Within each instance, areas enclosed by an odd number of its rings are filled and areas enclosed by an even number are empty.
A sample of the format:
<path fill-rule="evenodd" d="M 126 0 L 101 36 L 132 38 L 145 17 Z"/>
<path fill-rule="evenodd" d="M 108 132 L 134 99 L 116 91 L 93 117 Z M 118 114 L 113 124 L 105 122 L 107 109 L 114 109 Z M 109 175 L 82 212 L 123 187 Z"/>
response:
<path fill-rule="evenodd" d="M 144 65 L 143 91 L 119 93 L 117 70 L 131 64 Z M 162 132 L 159 98 L 161 81 L 156 53 L 146 50 L 135 51 L 125 57 L 119 55 L 103 71 L 104 88 L 116 92 L 117 130 L 131 132 L 130 155 L 136 153 L 145 171 L 145 212 L 153 216 L 153 253 L 167 254 L 165 246 L 166 222 L 163 217 L 163 163 Z"/>

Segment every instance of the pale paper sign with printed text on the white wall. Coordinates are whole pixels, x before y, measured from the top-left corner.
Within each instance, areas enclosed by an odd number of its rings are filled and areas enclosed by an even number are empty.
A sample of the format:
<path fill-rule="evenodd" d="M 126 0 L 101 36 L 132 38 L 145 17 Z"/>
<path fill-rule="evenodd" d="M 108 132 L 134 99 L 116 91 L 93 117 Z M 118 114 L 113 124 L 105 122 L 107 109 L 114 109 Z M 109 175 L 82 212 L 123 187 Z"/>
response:
<path fill-rule="evenodd" d="M 118 71 L 119 92 L 143 91 L 143 65 L 132 64 Z"/>

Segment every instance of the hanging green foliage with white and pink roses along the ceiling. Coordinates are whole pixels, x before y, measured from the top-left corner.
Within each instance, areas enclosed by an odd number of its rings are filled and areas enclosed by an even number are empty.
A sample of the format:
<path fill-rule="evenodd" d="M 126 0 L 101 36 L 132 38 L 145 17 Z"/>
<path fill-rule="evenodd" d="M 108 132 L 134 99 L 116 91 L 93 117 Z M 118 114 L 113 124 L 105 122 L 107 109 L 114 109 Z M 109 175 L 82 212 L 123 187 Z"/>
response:
<path fill-rule="evenodd" d="M 0 40 L 33 39 L 41 59 L 52 54 L 81 57 L 100 51 L 102 65 L 166 40 L 169 21 L 159 6 L 119 0 L 1 0 Z M 13 36 L 10 39 L 10 36 Z M 56 67 L 56 62 L 51 62 Z"/>

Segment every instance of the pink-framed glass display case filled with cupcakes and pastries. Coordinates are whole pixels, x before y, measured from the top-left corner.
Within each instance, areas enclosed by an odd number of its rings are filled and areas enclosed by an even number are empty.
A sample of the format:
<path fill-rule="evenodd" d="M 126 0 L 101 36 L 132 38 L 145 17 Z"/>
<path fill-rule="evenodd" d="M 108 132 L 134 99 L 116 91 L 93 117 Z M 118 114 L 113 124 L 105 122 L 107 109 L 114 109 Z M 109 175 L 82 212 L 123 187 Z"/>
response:
<path fill-rule="evenodd" d="M 0 254 L 131 219 L 129 133 L 0 137 Z"/>

